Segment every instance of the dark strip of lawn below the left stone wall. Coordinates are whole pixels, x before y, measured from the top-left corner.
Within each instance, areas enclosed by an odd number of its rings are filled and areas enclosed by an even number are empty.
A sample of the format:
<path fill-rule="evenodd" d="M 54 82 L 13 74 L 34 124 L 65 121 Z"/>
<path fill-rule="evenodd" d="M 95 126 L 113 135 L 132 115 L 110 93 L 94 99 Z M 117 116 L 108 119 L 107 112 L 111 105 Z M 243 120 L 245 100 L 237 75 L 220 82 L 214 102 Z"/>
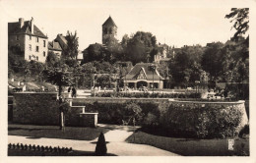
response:
<path fill-rule="evenodd" d="M 65 133 L 59 130 L 58 126 L 34 126 L 34 125 L 8 125 L 9 136 L 31 136 L 64 139 L 93 140 L 99 136 L 100 132 L 105 134 L 109 129 L 105 128 L 80 128 L 66 127 Z"/>

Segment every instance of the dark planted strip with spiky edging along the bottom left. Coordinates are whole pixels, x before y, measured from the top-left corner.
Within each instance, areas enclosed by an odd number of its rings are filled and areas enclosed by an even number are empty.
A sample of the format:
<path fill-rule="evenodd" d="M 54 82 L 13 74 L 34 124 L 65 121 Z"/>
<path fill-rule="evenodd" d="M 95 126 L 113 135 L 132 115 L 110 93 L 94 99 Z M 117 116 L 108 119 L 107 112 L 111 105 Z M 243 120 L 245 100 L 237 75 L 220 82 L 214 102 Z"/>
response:
<path fill-rule="evenodd" d="M 56 152 L 42 152 L 42 151 L 29 151 L 19 149 L 8 149 L 8 156 L 96 156 L 92 151 L 73 150 L 69 153 L 56 153 Z M 115 156 L 111 153 L 106 153 L 105 156 Z"/>

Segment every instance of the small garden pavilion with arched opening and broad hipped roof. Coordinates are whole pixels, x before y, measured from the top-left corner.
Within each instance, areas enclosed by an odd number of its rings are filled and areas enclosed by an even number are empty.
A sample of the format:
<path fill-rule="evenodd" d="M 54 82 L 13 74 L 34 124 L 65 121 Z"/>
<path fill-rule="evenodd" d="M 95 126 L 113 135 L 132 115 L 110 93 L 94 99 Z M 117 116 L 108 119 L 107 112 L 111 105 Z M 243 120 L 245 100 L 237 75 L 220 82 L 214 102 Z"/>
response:
<path fill-rule="evenodd" d="M 154 65 L 155 66 L 155 65 Z M 152 88 L 163 88 L 164 79 L 160 77 L 158 70 L 152 69 L 151 63 L 136 64 L 131 71 L 123 78 L 124 84 L 129 87 L 139 88 L 146 86 Z"/>

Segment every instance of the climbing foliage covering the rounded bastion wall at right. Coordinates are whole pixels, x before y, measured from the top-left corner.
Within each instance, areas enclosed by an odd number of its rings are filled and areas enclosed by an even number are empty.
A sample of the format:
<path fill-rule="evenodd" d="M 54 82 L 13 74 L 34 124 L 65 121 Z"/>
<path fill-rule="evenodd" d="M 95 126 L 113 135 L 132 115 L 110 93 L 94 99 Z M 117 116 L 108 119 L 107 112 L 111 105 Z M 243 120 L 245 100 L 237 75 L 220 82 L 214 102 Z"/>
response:
<path fill-rule="evenodd" d="M 237 106 L 170 104 L 160 109 L 160 126 L 176 136 L 199 138 L 233 137 L 238 135 L 242 113 Z M 182 114 L 180 114 L 182 113 Z"/>

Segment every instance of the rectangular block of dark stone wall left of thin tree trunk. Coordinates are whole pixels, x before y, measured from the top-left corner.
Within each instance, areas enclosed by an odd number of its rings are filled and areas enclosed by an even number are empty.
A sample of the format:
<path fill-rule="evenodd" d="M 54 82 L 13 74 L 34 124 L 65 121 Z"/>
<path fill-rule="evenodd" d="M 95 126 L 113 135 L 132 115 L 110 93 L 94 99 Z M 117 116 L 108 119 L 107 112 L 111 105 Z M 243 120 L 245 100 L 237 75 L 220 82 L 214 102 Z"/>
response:
<path fill-rule="evenodd" d="M 13 122 L 58 125 L 57 93 L 14 93 Z"/>

